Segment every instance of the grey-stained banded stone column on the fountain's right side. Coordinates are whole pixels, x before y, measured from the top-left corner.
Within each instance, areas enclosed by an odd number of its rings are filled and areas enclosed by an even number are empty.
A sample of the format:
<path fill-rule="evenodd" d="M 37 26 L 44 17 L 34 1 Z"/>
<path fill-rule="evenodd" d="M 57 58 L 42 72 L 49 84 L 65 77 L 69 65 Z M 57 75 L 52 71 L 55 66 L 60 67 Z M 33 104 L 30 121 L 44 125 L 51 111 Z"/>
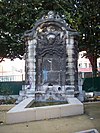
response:
<path fill-rule="evenodd" d="M 66 90 L 68 95 L 74 95 L 75 90 L 75 54 L 74 54 L 74 37 L 66 39 Z"/>

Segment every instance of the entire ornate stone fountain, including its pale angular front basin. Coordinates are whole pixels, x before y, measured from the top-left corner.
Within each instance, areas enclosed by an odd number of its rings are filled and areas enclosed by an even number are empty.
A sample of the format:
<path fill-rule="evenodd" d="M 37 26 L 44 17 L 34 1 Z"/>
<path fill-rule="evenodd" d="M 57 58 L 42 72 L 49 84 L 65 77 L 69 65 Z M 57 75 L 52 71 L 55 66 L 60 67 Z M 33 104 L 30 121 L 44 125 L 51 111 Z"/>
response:
<path fill-rule="evenodd" d="M 19 104 L 6 114 L 6 123 L 48 120 L 84 113 L 75 98 L 78 85 L 78 33 L 59 14 L 50 11 L 25 32 L 25 85 Z M 32 102 L 67 104 L 31 107 Z"/>

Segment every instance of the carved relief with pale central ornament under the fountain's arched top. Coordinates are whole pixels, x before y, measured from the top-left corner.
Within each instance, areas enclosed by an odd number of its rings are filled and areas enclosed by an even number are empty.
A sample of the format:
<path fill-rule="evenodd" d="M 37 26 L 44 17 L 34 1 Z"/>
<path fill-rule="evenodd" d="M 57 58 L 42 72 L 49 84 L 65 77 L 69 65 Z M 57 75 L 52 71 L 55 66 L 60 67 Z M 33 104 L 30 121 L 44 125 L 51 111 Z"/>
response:
<path fill-rule="evenodd" d="M 65 33 L 56 24 L 46 23 L 37 28 L 38 47 L 48 45 L 60 46 L 65 44 Z"/>

